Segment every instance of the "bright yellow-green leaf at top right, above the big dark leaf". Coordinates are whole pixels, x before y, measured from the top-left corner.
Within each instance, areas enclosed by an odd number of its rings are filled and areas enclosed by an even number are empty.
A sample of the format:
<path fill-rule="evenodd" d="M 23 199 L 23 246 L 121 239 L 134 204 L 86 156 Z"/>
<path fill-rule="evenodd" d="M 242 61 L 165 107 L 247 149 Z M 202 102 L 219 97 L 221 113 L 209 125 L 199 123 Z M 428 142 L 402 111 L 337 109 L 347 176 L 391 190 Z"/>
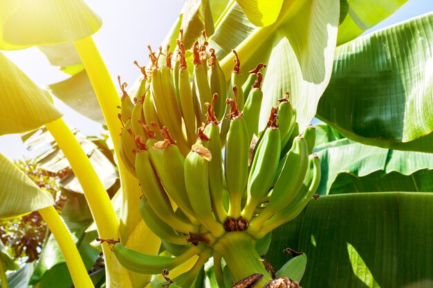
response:
<path fill-rule="evenodd" d="M 340 0 L 337 45 L 361 35 L 396 12 L 407 0 Z"/>

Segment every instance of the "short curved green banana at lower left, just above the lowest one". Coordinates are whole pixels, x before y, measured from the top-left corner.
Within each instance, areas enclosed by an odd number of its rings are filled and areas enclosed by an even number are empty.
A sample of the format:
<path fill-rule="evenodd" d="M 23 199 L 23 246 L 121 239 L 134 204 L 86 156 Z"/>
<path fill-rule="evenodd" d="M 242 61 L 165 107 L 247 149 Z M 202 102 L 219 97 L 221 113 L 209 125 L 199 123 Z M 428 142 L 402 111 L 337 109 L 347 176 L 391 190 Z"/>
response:
<path fill-rule="evenodd" d="M 149 204 L 149 201 L 143 196 L 140 200 L 140 204 L 138 206 L 140 211 L 140 215 L 142 220 L 145 222 L 147 227 L 151 229 L 155 233 L 156 236 L 161 238 L 161 240 L 165 240 L 167 242 L 171 242 L 179 245 L 186 245 L 187 238 L 186 236 L 181 236 L 176 231 L 174 231 L 173 227 L 164 222 L 161 218 L 156 215 L 154 209 Z"/>

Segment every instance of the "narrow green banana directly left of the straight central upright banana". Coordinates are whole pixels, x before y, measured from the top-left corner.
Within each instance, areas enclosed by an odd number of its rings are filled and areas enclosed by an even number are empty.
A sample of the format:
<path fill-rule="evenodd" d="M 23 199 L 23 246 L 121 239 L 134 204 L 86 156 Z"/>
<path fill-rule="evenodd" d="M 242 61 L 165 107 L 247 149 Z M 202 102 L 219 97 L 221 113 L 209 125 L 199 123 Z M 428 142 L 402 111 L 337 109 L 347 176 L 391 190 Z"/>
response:
<path fill-rule="evenodd" d="M 204 133 L 209 137 L 209 141 L 203 142 L 203 146 L 208 148 L 212 160 L 209 162 L 209 189 L 212 200 L 212 209 L 216 220 L 224 222 L 228 217 L 224 208 L 223 200 L 223 157 L 221 154 L 221 140 L 219 139 L 218 119 L 216 119 L 214 104 L 216 104 L 217 95 L 212 97 L 212 104 L 208 104 L 208 119 Z"/>

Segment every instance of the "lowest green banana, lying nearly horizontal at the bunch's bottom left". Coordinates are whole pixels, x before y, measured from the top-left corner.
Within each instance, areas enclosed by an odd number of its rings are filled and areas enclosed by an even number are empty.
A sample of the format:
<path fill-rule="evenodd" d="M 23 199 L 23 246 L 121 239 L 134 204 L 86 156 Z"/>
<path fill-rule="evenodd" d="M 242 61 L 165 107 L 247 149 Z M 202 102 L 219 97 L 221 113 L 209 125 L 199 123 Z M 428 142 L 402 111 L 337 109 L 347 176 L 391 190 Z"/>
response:
<path fill-rule="evenodd" d="M 203 250 L 201 245 L 192 246 L 177 257 L 147 255 L 125 247 L 120 242 L 114 244 L 113 252 L 120 264 L 133 272 L 160 274 L 163 269 L 173 269 Z"/>

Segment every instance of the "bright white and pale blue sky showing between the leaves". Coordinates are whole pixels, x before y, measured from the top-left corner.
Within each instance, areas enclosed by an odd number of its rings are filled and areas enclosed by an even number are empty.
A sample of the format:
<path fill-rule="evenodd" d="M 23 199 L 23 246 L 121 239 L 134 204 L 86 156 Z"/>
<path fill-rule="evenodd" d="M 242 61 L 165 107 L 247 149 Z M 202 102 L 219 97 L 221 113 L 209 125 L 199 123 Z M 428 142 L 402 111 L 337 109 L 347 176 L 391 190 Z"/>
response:
<path fill-rule="evenodd" d="M 147 45 L 154 48 L 160 45 L 183 6 L 181 0 L 85 0 L 85 2 L 102 18 L 102 28 L 93 35 L 93 39 L 113 81 L 117 83 L 116 77 L 120 75 L 122 81 L 128 84 L 133 84 L 140 75 L 133 61 L 137 60 L 141 65 L 147 62 Z M 366 33 L 430 11 L 433 11 L 432 0 L 409 0 L 394 15 L 367 30 Z M 47 86 L 68 77 L 58 68 L 51 66 L 46 57 L 35 47 L 3 52 L 39 86 Z M 100 124 L 76 113 L 62 102 L 57 100 L 55 105 L 64 113 L 64 120 L 73 122 L 74 126 L 85 135 L 95 135 L 102 131 Z M 19 135 L 0 136 L 0 153 L 11 160 L 34 156 L 26 151 Z"/>

